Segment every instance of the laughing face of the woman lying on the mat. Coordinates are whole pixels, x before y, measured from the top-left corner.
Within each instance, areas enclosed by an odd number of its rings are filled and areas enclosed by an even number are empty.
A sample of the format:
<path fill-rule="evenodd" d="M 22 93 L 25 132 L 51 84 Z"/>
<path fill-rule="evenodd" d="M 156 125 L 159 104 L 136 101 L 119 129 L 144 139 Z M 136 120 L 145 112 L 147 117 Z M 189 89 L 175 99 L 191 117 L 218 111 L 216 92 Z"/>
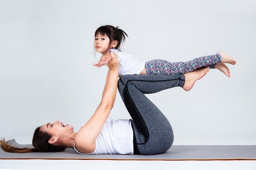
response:
<path fill-rule="evenodd" d="M 43 124 L 40 130 L 47 132 L 52 136 L 54 140 L 63 139 L 74 132 L 74 128 L 71 125 L 64 125 L 62 122 L 56 120 L 54 123 Z"/>

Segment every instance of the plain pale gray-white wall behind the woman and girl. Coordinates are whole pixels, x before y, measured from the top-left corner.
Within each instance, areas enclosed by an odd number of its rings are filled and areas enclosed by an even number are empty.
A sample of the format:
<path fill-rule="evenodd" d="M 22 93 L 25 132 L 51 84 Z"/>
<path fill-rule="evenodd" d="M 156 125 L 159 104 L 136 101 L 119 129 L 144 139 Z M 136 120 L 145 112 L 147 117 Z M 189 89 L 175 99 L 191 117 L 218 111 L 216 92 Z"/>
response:
<path fill-rule="evenodd" d="M 234 57 L 231 78 L 210 70 L 189 92 L 147 96 L 174 145 L 254 145 L 255 9 L 254 0 L 0 0 L 0 137 L 31 144 L 49 121 L 75 131 L 88 121 L 108 70 L 92 66 L 94 31 L 111 24 L 129 35 L 121 49 L 144 61 Z M 119 94 L 110 117 L 130 118 Z"/>

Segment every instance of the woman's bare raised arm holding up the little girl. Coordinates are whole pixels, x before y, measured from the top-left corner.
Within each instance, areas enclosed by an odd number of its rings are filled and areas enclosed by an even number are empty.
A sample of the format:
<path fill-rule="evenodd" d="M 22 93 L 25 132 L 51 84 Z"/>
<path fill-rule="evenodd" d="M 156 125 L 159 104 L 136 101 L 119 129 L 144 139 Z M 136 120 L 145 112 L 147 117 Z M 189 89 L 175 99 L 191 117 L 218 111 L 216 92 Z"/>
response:
<path fill-rule="evenodd" d="M 116 53 L 112 53 L 112 61 L 108 64 L 108 67 L 101 102 L 89 121 L 79 130 L 74 141 L 76 148 L 83 153 L 94 152 L 95 139 L 101 132 L 115 103 L 119 71 L 119 61 Z"/>

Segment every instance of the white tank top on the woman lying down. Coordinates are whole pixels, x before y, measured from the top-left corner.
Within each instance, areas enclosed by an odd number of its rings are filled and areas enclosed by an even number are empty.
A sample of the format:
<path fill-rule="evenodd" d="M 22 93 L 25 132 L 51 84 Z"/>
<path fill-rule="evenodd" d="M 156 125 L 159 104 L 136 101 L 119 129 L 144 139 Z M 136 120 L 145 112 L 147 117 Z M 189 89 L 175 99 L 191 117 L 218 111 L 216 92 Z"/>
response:
<path fill-rule="evenodd" d="M 83 124 L 84 125 L 84 124 Z M 90 154 L 133 154 L 133 131 L 131 119 L 113 120 L 108 117 L 99 136 L 96 138 L 96 148 Z M 74 144 L 76 152 L 79 152 Z"/>

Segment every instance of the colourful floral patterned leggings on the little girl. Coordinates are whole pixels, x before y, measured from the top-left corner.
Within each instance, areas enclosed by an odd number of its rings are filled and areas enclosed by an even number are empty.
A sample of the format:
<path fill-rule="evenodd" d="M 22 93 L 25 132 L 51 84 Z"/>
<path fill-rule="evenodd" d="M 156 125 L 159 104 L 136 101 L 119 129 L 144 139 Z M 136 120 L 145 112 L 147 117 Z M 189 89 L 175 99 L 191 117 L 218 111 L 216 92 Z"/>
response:
<path fill-rule="evenodd" d="M 198 68 L 209 66 L 215 68 L 216 64 L 221 62 L 221 55 L 207 55 L 198 57 L 188 62 L 168 62 L 166 60 L 151 60 L 146 62 L 146 74 L 168 75 L 168 74 L 185 74 Z"/>

